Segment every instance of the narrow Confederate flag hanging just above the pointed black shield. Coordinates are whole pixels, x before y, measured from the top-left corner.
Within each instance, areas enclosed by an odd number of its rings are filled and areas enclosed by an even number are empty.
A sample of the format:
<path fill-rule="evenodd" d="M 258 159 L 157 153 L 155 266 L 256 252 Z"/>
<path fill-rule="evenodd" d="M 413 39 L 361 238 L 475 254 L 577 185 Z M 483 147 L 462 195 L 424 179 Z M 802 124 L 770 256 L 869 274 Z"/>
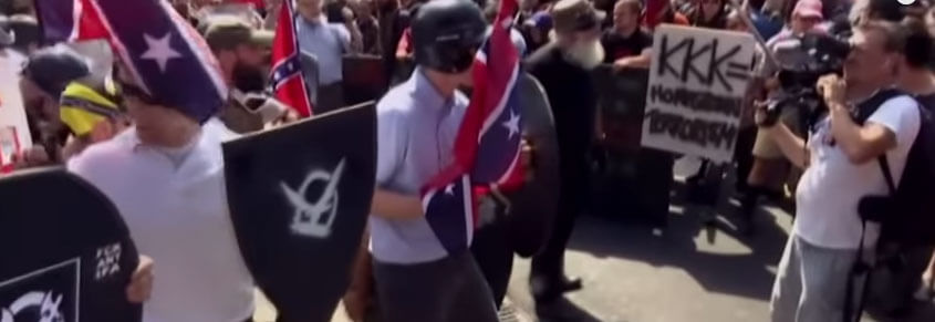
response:
<path fill-rule="evenodd" d="M 282 1 L 272 45 L 270 90 L 276 98 L 291 106 L 300 116 L 309 117 L 313 108 L 299 62 L 299 39 L 293 12 L 292 1 Z"/>

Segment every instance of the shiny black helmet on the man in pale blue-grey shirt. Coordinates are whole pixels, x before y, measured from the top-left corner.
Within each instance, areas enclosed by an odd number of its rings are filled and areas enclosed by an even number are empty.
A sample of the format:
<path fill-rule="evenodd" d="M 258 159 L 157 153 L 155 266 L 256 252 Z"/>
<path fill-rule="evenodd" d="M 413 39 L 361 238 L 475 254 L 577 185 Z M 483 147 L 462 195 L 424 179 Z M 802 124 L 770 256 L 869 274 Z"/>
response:
<path fill-rule="evenodd" d="M 487 22 L 470 0 L 433 0 L 422 6 L 412 24 L 416 64 L 460 73 L 474 63 Z"/>

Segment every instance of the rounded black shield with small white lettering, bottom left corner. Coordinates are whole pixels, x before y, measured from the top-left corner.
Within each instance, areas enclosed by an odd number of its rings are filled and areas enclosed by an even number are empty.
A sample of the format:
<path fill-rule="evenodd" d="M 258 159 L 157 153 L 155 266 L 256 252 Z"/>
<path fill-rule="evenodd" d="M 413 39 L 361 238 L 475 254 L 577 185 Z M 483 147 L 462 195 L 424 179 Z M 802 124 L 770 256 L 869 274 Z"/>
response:
<path fill-rule="evenodd" d="M 139 258 L 103 194 L 41 169 L 0 179 L 0 321 L 142 319 L 126 300 Z"/>

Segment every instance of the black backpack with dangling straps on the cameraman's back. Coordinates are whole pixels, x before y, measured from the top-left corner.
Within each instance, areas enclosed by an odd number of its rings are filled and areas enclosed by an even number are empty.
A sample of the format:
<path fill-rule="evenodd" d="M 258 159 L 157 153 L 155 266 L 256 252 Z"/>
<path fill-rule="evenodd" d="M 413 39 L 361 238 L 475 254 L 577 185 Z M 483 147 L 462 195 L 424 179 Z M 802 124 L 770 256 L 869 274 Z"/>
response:
<path fill-rule="evenodd" d="M 858 105 L 854 121 L 863 124 L 890 98 L 906 95 L 897 90 L 884 90 L 870 100 Z M 923 100 L 928 101 L 931 100 Z M 926 102 L 926 103 L 928 103 Z M 910 148 L 905 168 L 895 184 L 886 154 L 877 157 L 877 164 L 886 179 L 890 194 L 885 196 L 866 196 L 858 206 L 858 212 L 865 230 L 866 222 L 873 221 L 881 226 L 877 242 L 877 264 L 891 266 L 900 253 L 918 247 L 935 245 L 935 106 L 918 105 L 920 131 Z M 858 246 L 858 260 L 848 280 L 844 303 L 844 321 L 860 321 L 863 312 L 863 300 L 871 284 L 874 264 L 863 258 L 863 235 Z M 854 301 L 853 289 L 860 277 L 866 276 L 865 287 L 858 301 L 856 310 L 852 310 Z"/>

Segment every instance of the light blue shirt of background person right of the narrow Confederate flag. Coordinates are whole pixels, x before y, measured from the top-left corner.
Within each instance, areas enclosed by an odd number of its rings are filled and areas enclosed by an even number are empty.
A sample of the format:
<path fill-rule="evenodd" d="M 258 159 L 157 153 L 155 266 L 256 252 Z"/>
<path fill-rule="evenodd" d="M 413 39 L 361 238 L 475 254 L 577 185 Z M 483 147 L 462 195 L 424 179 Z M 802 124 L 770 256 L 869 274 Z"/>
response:
<path fill-rule="evenodd" d="M 299 48 L 314 54 L 319 62 L 319 85 L 343 80 L 342 56 L 351 45 L 351 32 L 340 23 L 295 18 Z"/>

